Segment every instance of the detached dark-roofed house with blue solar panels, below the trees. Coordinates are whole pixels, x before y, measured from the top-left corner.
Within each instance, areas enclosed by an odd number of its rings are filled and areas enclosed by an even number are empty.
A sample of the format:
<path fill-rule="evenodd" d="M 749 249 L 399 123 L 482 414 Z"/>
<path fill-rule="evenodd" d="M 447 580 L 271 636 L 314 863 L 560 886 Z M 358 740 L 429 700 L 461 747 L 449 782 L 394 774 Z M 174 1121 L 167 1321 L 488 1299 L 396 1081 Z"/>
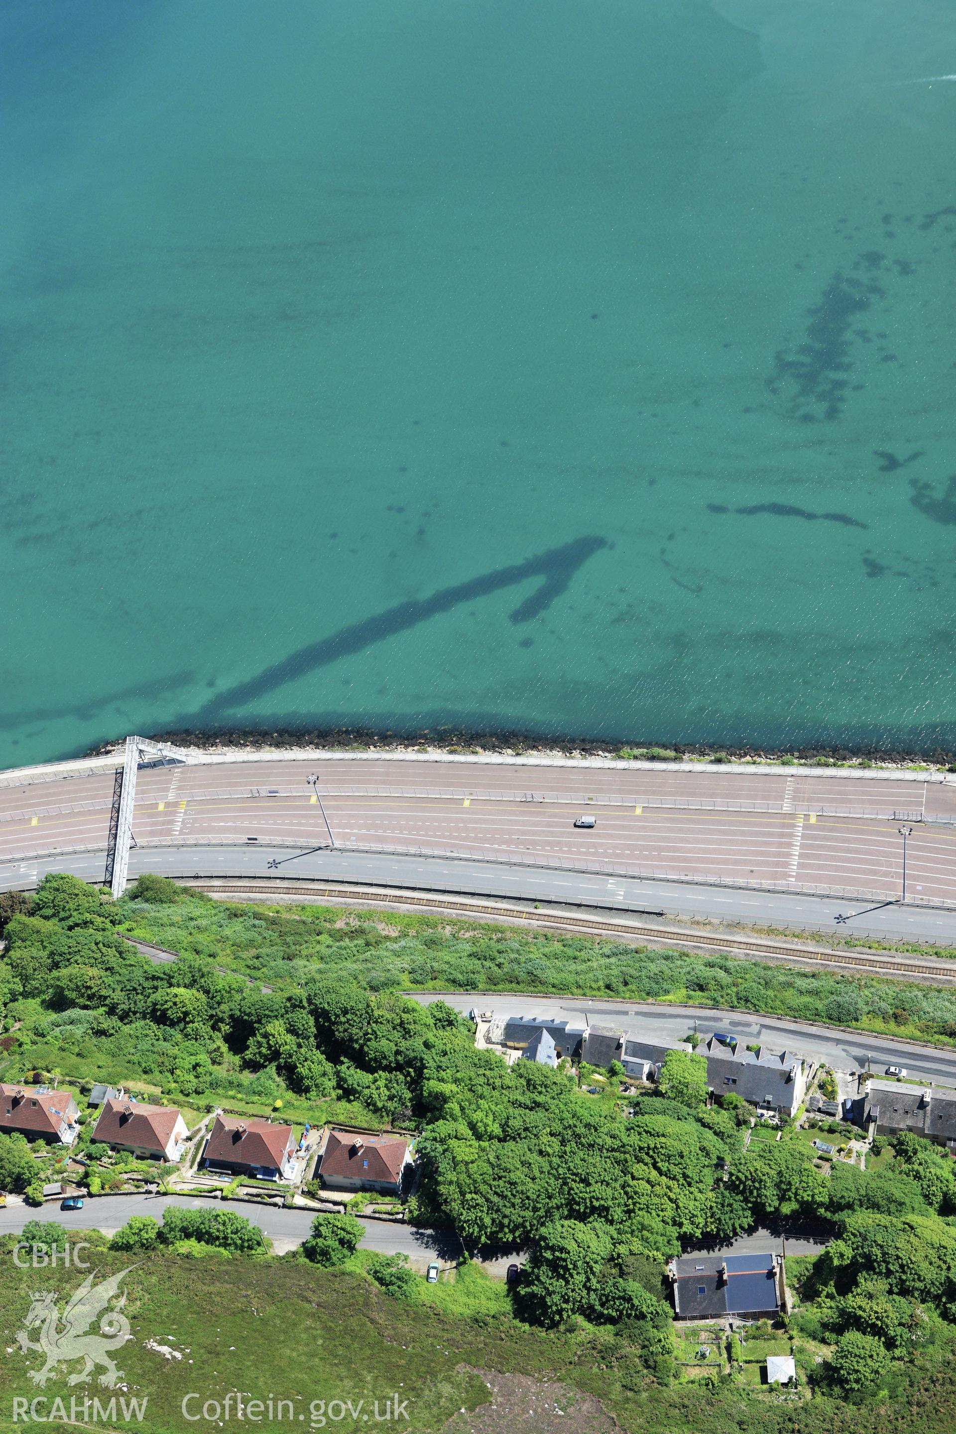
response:
<path fill-rule="evenodd" d="M 787 1308 L 778 1255 L 685 1255 L 668 1273 L 678 1319 L 775 1319 Z"/>

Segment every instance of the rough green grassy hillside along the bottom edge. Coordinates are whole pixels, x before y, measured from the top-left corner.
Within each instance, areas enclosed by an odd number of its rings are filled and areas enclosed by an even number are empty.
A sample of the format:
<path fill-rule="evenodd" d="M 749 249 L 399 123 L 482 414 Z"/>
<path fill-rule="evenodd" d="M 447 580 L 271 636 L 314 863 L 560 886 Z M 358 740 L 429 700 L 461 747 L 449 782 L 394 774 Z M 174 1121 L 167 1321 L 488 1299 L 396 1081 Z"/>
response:
<path fill-rule="evenodd" d="M 105 1243 L 100 1238 L 100 1246 Z M 102 1390 L 95 1380 L 70 1390 L 66 1380 L 79 1362 L 60 1368 L 43 1390 L 30 1382 L 42 1364 L 24 1357 L 17 1332 L 36 1292 L 56 1293 L 62 1319 L 80 1283 L 75 1269 L 17 1269 L 14 1238 L 0 1239 L 0 1434 L 23 1431 L 13 1400 L 46 1398 L 40 1417 L 66 1427 L 129 1428 L 143 1434 L 218 1434 L 257 1427 L 236 1418 L 236 1394 L 245 1405 L 269 1398 L 281 1417 L 261 1427 L 275 1431 L 335 1428 L 357 1434 L 376 1427 L 374 1401 L 407 1401 L 406 1417 L 390 1427 L 410 1434 L 950 1434 L 949 1364 L 939 1365 L 930 1400 L 856 1410 L 827 1398 L 793 1402 L 761 1390 L 760 1364 L 741 1380 L 725 1374 L 718 1331 L 694 1326 L 679 1334 L 674 1384 L 662 1385 L 644 1369 L 635 1349 L 613 1329 L 582 1321 L 566 1329 L 530 1329 L 513 1318 L 502 1281 L 466 1266 L 453 1281 L 416 1285 L 410 1299 L 383 1293 L 363 1273 L 360 1252 L 348 1266 L 317 1269 L 295 1258 L 249 1259 L 211 1255 L 189 1259 L 169 1253 L 123 1256 L 99 1248 L 89 1258 L 96 1279 L 128 1271 L 122 1314 L 132 1339 L 118 1351 L 125 1388 Z M 83 1328 L 96 1334 L 100 1315 Z M 37 1339 L 33 1328 L 30 1338 Z M 709 1344 L 712 1358 L 695 1361 Z M 165 1348 L 156 1348 L 165 1347 Z M 6 1349 L 6 1355 L 3 1354 Z M 760 1351 L 751 1345 L 748 1354 Z M 179 1355 L 181 1358 L 176 1358 Z M 811 1362 L 811 1361 L 810 1361 Z M 752 1375 L 752 1382 L 751 1382 Z M 717 1382 L 712 1382 L 717 1378 Z M 705 1388 L 701 1388 L 704 1381 Z M 70 1395 L 112 1394 L 146 1400 L 142 1418 L 70 1425 Z M 183 1412 L 186 1395 L 198 1395 Z M 232 1395 L 231 1414 L 225 1401 Z M 66 1420 L 53 1414 L 64 1400 Z M 212 1414 L 188 1418 L 206 1401 Z M 341 1401 L 330 1411 L 331 1401 Z M 360 1402 L 363 1401 L 363 1402 Z M 348 1405 L 354 1412 L 350 1412 Z M 218 1412 L 216 1412 L 216 1405 Z M 118 1408 L 118 1414 L 122 1410 Z M 368 1414 L 368 1418 L 364 1418 Z M 384 1420 L 381 1421 L 384 1423 Z"/>

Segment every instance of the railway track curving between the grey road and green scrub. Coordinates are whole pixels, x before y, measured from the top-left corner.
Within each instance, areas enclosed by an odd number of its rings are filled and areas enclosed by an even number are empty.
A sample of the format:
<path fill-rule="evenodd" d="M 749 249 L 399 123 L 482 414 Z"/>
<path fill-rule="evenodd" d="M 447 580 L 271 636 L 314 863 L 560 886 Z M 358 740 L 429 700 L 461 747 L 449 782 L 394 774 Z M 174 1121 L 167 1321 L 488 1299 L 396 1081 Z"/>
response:
<path fill-rule="evenodd" d="M 575 931 L 586 935 L 611 936 L 615 941 L 638 939 L 645 945 L 677 946 L 702 954 L 727 952 L 751 956 L 755 961 L 771 961 L 803 968 L 827 968 L 830 971 L 857 972 L 860 975 L 881 975 L 896 981 L 923 981 L 936 985 L 956 985 L 956 962 L 935 961 L 923 956 L 889 956 L 884 952 L 846 952 L 828 946 L 808 945 L 795 941 L 760 936 L 728 936 L 711 931 L 688 931 L 681 926 L 648 925 L 626 918 L 608 921 L 591 911 L 565 912 L 555 908 L 519 906 L 510 902 L 443 896 L 434 892 L 397 891 L 391 888 L 351 886 L 312 880 L 297 882 L 245 882 L 182 879 L 183 886 L 192 886 L 219 899 L 254 896 L 269 899 L 330 901 L 348 905 L 408 908 L 419 911 L 447 912 L 456 916 L 470 916 L 480 921 L 502 921 L 525 926 Z M 583 905 L 583 903 L 582 903 Z M 593 903 L 591 903 L 593 905 Z"/>

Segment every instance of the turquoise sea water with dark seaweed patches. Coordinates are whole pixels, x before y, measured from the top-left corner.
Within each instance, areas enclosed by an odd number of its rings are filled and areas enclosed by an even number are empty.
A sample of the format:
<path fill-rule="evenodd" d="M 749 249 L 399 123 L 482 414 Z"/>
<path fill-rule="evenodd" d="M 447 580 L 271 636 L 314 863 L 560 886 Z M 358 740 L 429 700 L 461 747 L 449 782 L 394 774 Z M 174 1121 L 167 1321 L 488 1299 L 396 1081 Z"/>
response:
<path fill-rule="evenodd" d="M 949 0 L 7 0 L 0 764 L 956 744 Z"/>

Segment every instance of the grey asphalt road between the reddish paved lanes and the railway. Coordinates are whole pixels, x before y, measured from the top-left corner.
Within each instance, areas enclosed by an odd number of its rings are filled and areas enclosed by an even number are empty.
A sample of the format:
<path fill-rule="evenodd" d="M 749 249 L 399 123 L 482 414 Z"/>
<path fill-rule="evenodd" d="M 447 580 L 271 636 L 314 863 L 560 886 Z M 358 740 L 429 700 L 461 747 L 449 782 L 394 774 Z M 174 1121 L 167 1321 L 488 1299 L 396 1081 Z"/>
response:
<path fill-rule="evenodd" d="M 804 896 L 788 892 L 740 891 L 732 886 L 707 886 L 694 882 L 666 882 L 589 872 L 548 870 L 516 866 L 506 859 L 482 862 L 447 860 L 439 856 L 393 856 L 371 852 L 317 852 L 288 860 L 287 847 L 267 842 L 241 846 L 138 847 L 130 852 L 130 880 L 145 870 L 166 876 L 244 876 L 262 880 L 269 876 L 295 876 L 321 880 L 351 880 L 416 891 L 460 892 L 477 896 L 572 903 L 576 908 L 616 911 L 662 911 L 668 916 L 704 916 L 757 925 L 790 926 L 800 931 L 833 934 L 837 929 L 884 939 L 927 939 L 956 944 L 956 911 L 932 906 L 884 906 L 866 916 L 854 916 L 837 928 L 834 918 L 863 911 L 866 902 L 833 896 Z M 269 860 L 281 860 L 269 870 Z M 69 870 L 86 880 L 103 879 L 103 855 L 77 853 L 39 860 L 1 862 L 0 889 L 30 888 L 47 870 Z"/>

